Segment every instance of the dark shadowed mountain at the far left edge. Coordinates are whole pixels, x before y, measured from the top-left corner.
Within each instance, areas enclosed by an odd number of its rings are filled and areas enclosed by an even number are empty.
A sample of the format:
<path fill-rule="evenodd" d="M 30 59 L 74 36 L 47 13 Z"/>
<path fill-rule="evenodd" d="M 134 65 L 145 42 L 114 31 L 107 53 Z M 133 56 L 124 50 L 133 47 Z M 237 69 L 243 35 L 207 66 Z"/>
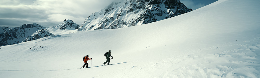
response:
<path fill-rule="evenodd" d="M 23 24 L 21 27 L 15 27 L 4 31 L 0 34 L 0 46 L 18 44 L 21 43 L 25 38 L 33 34 L 37 30 L 44 29 L 39 24 Z"/>

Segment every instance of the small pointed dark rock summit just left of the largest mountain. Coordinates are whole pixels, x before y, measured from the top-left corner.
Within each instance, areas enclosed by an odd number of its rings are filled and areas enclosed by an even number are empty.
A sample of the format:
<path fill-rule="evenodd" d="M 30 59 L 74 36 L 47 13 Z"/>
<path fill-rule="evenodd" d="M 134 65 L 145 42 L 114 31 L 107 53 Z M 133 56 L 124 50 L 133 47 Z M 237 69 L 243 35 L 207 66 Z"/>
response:
<path fill-rule="evenodd" d="M 72 20 L 64 20 L 60 29 L 61 30 L 64 30 L 64 29 L 67 29 L 67 28 L 75 28 L 75 29 L 78 29 L 80 26 L 76 23 L 74 23 Z"/>

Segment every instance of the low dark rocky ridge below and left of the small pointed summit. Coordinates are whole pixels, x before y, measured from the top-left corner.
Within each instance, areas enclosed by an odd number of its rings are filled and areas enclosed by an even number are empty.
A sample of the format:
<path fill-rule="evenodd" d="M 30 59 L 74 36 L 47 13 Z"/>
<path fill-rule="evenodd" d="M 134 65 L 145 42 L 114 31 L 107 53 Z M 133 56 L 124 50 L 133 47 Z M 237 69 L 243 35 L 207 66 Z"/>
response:
<path fill-rule="evenodd" d="M 54 36 L 54 34 L 49 33 L 48 31 L 44 31 L 44 30 L 45 29 L 42 29 L 41 31 L 37 32 L 37 34 L 27 37 L 26 39 L 23 40 L 23 42 L 37 40 L 37 39 L 40 39 L 43 37 L 48 37 L 48 36 Z"/>

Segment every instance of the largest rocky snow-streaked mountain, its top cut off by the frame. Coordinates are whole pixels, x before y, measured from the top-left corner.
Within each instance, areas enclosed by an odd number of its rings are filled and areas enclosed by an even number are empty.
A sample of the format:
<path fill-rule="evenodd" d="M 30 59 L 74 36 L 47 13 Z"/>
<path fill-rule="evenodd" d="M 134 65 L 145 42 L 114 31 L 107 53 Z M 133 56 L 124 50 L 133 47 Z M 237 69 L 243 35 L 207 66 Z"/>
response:
<path fill-rule="evenodd" d="M 131 27 L 190 11 L 179 0 L 123 0 L 88 16 L 77 31 Z"/>

